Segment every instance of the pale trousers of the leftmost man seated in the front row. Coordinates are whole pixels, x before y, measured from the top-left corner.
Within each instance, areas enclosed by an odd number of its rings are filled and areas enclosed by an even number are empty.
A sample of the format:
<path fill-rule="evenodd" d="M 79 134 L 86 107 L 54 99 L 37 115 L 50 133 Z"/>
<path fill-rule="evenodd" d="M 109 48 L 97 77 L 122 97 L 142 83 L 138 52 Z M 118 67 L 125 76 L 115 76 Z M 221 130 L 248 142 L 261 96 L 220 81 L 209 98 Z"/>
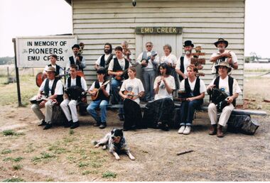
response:
<path fill-rule="evenodd" d="M 31 106 L 31 109 L 33 110 L 34 113 L 36 113 L 36 116 L 38 116 L 38 119 L 40 121 L 45 119 L 45 122 L 50 124 L 50 123 L 52 123 L 53 105 L 54 104 L 52 103 L 51 100 L 49 100 L 45 103 L 45 117 L 41 111 L 41 107 L 39 106 L 39 104 L 33 104 Z"/>

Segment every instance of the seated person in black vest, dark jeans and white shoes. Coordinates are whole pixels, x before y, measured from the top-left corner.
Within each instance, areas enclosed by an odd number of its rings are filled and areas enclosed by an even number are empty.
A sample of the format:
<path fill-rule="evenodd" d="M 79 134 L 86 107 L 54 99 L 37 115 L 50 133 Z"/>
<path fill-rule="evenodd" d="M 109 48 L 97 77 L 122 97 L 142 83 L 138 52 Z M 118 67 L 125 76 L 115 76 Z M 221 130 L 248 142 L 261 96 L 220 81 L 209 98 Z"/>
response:
<path fill-rule="evenodd" d="M 185 91 L 185 101 L 182 101 L 180 128 L 178 133 L 188 135 L 190 134 L 191 125 L 193 123 L 193 116 L 195 109 L 198 109 L 203 103 L 205 98 L 205 82 L 195 74 L 198 72 L 195 65 L 187 67 L 188 78 L 183 79 L 180 84 L 180 91 Z"/>

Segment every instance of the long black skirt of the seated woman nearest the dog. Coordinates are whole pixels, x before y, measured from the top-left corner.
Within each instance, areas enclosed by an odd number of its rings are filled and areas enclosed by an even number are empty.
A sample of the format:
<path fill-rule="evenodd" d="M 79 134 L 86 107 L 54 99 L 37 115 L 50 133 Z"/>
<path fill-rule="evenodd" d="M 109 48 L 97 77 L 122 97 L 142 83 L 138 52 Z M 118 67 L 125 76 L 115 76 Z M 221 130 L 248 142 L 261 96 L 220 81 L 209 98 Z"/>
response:
<path fill-rule="evenodd" d="M 126 130 L 145 128 L 142 123 L 141 107 L 136 101 L 124 99 L 124 128 Z"/>

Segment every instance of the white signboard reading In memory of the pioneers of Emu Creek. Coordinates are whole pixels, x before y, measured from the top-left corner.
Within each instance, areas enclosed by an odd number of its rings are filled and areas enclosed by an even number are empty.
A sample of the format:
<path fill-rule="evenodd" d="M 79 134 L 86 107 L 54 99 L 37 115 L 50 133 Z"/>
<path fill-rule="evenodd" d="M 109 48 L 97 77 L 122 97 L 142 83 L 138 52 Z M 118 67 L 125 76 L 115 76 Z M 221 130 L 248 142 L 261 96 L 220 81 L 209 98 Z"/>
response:
<path fill-rule="evenodd" d="M 16 38 L 18 67 L 45 67 L 50 64 L 50 55 L 58 56 L 57 65 L 65 67 L 72 56 L 72 45 L 77 44 L 75 35 L 50 35 Z"/>

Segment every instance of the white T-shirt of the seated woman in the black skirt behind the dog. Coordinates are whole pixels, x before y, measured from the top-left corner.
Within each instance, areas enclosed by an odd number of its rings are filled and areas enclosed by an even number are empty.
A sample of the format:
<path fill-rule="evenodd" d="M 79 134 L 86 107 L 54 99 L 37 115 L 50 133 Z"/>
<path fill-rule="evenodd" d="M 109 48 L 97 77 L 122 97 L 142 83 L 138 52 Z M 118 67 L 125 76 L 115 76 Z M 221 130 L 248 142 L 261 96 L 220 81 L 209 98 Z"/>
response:
<path fill-rule="evenodd" d="M 124 80 L 120 91 L 132 91 L 134 92 L 134 95 L 138 95 L 141 91 L 144 91 L 144 85 L 141 82 L 140 79 L 134 78 L 134 79 L 126 79 Z M 140 104 L 140 99 L 135 99 L 137 104 Z"/>

